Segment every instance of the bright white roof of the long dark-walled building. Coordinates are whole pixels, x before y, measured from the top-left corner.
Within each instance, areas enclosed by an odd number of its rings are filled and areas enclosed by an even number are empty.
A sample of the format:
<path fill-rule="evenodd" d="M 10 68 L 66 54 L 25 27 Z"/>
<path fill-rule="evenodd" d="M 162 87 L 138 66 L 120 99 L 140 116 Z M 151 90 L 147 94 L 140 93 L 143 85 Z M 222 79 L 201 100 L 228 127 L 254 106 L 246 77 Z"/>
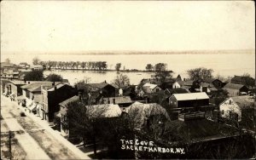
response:
<path fill-rule="evenodd" d="M 209 99 L 205 92 L 187 93 L 187 94 L 172 94 L 176 100 L 204 100 Z"/>

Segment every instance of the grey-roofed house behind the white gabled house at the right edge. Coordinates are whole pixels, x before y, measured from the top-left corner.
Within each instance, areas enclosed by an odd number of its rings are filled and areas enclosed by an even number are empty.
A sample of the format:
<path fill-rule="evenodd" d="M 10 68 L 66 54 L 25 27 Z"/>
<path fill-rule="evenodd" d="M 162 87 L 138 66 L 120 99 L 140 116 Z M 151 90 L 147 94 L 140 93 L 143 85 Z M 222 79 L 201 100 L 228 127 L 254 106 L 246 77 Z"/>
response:
<path fill-rule="evenodd" d="M 242 84 L 227 83 L 224 85 L 224 89 L 229 93 L 230 96 L 237 96 L 242 93 L 247 93 L 248 88 Z"/>

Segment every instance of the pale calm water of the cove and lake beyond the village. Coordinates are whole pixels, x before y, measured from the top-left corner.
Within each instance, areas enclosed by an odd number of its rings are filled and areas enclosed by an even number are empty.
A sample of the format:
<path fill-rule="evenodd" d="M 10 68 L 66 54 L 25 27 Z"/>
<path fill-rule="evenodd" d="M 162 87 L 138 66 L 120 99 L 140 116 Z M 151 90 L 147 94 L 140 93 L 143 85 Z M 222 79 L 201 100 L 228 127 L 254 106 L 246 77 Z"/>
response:
<path fill-rule="evenodd" d="M 26 61 L 32 63 L 32 58 L 37 54 L 2 54 L 1 58 L 9 58 L 14 63 Z M 175 72 L 174 76 L 180 74 L 187 77 L 186 71 L 195 67 L 207 67 L 213 69 L 213 75 L 220 74 L 224 77 L 242 75 L 244 72 L 255 77 L 255 53 L 249 54 L 39 54 L 40 60 L 56 61 L 107 61 L 108 68 L 113 69 L 116 63 L 122 63 L 122 69 L 139 69 L 145 70 L 145 66 L 150 63 L 155 65 L 162 62 L 168 65 L 168 69 Z M 99 83 L 104 80 L 111 82 L 116 77 L 115 71 L 52 71 L 61 74 L 64 78 L 69 79 L 71 83 L 91 77 L 91 83 Z M 49 71 L 45 71 L 49 74 Z M 137 84 L 143 77 L 150 77 L 152 73 L 134 72 L 127 74 L 131 83 Z"/>

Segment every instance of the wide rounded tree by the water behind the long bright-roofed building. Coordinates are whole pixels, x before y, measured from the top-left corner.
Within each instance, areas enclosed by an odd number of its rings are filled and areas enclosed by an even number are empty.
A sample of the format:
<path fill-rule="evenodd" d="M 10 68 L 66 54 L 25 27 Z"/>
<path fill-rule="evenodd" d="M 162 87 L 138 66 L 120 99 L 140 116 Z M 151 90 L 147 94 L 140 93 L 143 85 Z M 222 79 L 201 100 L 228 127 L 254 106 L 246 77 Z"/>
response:
<path fill-rule="evenodd" d="M 195 68 L 187 71 L 189 78 L 192 80 L 211 78 L 212 72 L 213 72 L 212 69 L 207 69 L 204 67 L 199 67 L 199 68 Z"/>

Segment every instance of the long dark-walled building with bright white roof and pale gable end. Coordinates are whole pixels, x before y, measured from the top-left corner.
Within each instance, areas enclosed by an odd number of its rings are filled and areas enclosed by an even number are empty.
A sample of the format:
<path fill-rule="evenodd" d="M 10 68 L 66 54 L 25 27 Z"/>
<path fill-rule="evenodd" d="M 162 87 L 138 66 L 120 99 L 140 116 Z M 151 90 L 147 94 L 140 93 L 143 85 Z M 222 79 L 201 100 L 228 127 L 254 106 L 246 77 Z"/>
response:
<path fill-rule="evenodd" d="M 169 105 L 175 108 L 209 106 L 209 97 L 205 92 L 172 94 Z"/>

